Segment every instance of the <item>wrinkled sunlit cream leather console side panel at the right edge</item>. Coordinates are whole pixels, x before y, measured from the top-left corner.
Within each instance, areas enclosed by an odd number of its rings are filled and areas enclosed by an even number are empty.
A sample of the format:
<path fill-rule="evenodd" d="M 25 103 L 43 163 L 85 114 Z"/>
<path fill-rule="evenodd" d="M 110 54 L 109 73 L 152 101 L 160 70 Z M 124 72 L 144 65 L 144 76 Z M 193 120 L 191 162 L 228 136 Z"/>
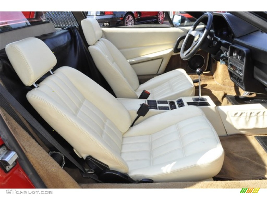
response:
<path fill-rule="evenodd" d="M 228 135 L 267 134 L 267 104 L 218 106 Z"/>

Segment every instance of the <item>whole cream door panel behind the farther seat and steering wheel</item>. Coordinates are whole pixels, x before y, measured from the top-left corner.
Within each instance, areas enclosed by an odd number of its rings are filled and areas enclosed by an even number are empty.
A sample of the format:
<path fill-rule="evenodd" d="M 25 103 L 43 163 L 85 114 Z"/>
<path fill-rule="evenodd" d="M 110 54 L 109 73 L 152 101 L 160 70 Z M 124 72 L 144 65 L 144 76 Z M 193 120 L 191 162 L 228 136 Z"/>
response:
<path fill-rule="evenodd" d="M 177 38 L 185 35 L 189 29 L 190 27 L 102 28 L 102 31 L 103 37 L 120 50 L 138 75 L 157 75 L 165 71 Z M 162 62 L 156 62 L 159 59 Z"/>

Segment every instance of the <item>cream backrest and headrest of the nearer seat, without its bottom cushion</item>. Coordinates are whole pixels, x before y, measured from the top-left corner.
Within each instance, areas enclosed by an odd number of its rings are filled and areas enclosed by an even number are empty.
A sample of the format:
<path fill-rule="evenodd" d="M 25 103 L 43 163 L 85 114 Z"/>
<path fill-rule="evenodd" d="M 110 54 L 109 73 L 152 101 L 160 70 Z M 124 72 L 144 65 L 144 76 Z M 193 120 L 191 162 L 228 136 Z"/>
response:
<path fill-rule="evenodd" d="M 52 51 L 37 38 L 10 43 L 6 53 L 25 85 L 32 85 L 56 65 Z M 60 67 L 29 91 L 27 99 L 81 157 L 91 155 L 111 169 L 128 172 L 120 151 L 131 117 L 92 79 L 72 67 Z"/>

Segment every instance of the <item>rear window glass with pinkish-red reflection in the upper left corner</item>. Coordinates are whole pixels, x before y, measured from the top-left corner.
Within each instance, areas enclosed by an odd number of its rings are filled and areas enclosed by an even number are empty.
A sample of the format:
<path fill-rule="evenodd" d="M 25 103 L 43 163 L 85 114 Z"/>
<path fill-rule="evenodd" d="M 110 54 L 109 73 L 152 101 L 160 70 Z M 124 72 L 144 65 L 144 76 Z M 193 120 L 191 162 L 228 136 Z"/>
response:
<path fill-rule="evenodd" d="M 48 20 L 46 19 L 44 12 L 0 11 L 0 32 L 46 22 L 48 22 Z"/>

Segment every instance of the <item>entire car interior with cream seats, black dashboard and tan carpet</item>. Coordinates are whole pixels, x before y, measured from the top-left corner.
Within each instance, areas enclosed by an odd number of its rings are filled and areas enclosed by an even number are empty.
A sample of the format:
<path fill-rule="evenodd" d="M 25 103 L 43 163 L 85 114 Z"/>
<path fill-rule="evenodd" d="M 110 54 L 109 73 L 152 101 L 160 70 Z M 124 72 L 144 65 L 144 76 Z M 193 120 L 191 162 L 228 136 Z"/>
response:
<path fill-rule="evenodd" d="M 0 136 L 35 187 L 266 188 L 266 21 L 188 13 L 193 26 L 72 12 L 75 26 L 0 32 Z"/>

